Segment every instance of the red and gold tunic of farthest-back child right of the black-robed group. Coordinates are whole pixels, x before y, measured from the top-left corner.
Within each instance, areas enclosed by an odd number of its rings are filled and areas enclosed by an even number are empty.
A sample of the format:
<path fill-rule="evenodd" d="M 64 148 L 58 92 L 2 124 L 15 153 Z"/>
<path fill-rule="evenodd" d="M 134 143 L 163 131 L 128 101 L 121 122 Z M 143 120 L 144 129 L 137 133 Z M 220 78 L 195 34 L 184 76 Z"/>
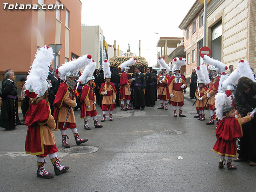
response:
<path fill-rule="evenodd" d="M 168 74 L 166 74 L 165 75 L 166 78 L 165 78 L 164 81 L 162 80 L 162 83 L 160 83 L 160 80 L 161 80 L 160 77 L 161 76 L 158 76 L 157 79 L 156 79 L 157 83 L 158 83 L 157 98 L 160 99 L 160 100 L 164 100 L 164 101 L 170 100 L 170 94 L 169 94 L 169 89 L 168 89 L 168 78 L 170 78 L 170 77 L 169 77 Z"/>

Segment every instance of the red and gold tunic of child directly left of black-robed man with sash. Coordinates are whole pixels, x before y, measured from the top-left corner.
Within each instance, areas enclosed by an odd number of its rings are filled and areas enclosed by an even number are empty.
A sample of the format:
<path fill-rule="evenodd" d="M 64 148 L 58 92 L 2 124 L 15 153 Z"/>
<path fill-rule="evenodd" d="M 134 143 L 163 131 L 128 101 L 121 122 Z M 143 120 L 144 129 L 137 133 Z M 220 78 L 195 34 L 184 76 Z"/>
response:
<path fill-rule="evenodd" d="M 130 100 L 131 93 L 129 91 L 130 84 L 132 80 L 128 79 L 128 74 L 126 72 L 122 73 L 120 77 L 120 93 L 119 93 L 119 100 Z"/>

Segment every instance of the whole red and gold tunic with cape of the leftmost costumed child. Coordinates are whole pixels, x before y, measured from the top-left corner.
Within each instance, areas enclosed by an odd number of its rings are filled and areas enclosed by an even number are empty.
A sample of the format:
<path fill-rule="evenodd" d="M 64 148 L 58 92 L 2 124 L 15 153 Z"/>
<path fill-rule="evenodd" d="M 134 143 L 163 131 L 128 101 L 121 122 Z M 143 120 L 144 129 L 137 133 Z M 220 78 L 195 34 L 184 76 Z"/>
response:
<path fill-rule="evenodd" d="M 58 151 L 52 132 L 56 124 L 46 100 L 43 99 L 38 104 L 30 104 L 25 116 L 25 125 L 28 126 L 25 143 L 26 154 L 45 154 L 45 147 L 50 153 Z"/>

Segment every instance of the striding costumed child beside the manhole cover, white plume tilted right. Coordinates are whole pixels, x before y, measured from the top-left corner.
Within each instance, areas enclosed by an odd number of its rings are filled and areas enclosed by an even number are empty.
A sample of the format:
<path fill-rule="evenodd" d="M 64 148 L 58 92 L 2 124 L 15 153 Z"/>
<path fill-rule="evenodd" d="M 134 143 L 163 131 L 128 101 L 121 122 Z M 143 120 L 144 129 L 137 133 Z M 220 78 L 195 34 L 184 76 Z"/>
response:
<path fill-rule="evenodd" d="M 56 121 L 56 128 L 57 130 L 60 129 L 62 135 L 62 146 L 65 148 L 70 148 L 70 145 L 66 140 L 66 138 L 68 138 L 66 135 L 67 129 L 71 129 L 77 145 L 88 141 L 88 139 L 80 139 L 78 135 L 73 108 L 77 105 L 75 94 L 77 85 L 79 84 L 75 78 L 79 77 L 78 71 L 87 66 L 91 62 L 91 59 L 92 56 L 84 55 L 76 60 L 63 64 L 56 70 L 56 73 L 60 75 L 60 78 L 65 81 L 61 83 L 58 88 L 53 103 L 55 106 L 53 116 Z M 68 114 L 69 110 L 70 113 Z"/>

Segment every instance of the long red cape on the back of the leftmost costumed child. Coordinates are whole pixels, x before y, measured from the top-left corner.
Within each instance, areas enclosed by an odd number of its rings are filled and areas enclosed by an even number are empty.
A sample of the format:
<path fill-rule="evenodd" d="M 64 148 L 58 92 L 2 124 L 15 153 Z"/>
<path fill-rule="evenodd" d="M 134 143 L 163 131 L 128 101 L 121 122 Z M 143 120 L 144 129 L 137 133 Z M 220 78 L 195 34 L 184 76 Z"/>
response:
<path fill-rule="evenodd" d="M 50 115 L 50 106 L 46 100 L 43 99 L 38 104 L 30 104 L 25 116 L 25 125 L 28 126 L 25 142 L 26 154 L 44 154 L 42 125 L 48 122 Z"/>

